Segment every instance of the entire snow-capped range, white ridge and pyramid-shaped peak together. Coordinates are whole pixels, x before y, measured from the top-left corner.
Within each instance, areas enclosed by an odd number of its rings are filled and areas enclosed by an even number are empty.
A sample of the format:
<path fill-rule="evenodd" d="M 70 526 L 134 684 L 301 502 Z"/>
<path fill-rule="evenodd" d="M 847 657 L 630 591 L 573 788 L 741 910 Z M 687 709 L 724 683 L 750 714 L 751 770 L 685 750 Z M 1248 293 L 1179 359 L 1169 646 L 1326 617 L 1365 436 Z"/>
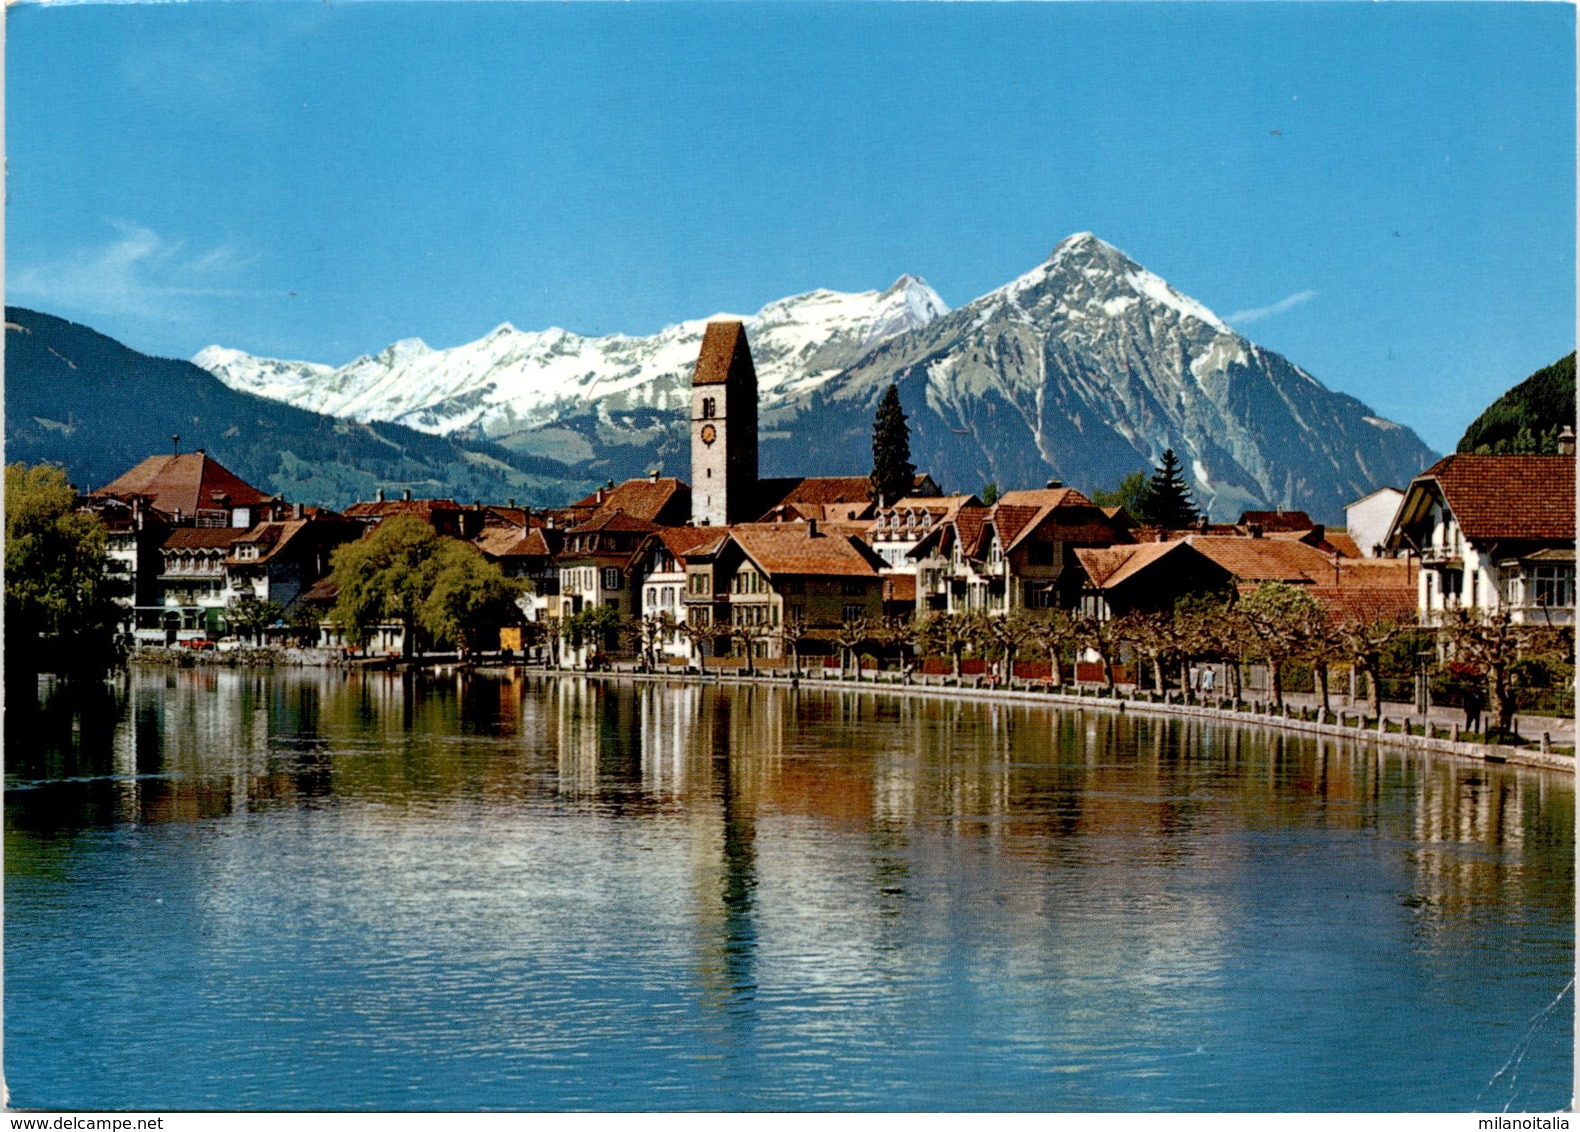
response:
<path fill-rule="evenodd" d="M 716 316 L 730 318 L 730 316 Z M 333 416 L 495 440 L 588 476 L 689 468 L 683 406 L 708 319 L 634 338 L 501 326 L 453 349 L 417 340 L 341 368 L 210 346 L 221 381 Z M 951 490 L 1109 487 L 1172 447 L 1217 517 L 1349 500 L 1435 458 L 1408 428 L 1248 341 L 1090 232 L 950 311 L 926 283 L 812 291 L 743 319 L 762 394 L 763 474 L 852 474 L 897 383 L 912 457 Z"/>

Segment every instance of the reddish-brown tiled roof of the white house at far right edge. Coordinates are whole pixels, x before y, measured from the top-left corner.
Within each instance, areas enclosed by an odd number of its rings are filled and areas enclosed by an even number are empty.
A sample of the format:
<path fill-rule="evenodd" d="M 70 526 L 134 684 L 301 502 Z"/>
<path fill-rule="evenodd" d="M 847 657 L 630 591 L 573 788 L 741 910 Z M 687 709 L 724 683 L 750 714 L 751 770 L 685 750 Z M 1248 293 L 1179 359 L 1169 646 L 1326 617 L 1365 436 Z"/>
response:
<path fill-rule="evenodd" d="M 1575 536 L 1575 462 L 1571 455 L 1446 455 L 1416 481 L 1435 479 L 1465 538 Z"/>

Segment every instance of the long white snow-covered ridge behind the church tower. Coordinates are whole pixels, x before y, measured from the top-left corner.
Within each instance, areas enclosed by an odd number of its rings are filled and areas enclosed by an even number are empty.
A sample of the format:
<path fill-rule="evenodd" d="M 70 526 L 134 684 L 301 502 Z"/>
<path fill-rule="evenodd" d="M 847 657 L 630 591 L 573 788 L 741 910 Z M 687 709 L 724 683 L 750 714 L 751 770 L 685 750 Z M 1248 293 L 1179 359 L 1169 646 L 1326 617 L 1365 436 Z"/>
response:
<path fill-rule="evenodd" d="M 747 316 L 765 406 L 807 397 L 875 343 L 948 311 L 923 280 L 904 275 L 886 291 L 812 291 Z M 741 318 L 714 315 L 714 318 Z M 709 319 L 670 326 L 649 338 L 585 338 L 569 330 L 499 326 L 477 341 L 431 349 L 406 338 L 340 368 L 280 362 L 209 346 L 193 362 L 224 384 L 299 408 L 356 421 L 393 421 L 431 433 L 466 433 L 572 460 L 599 443 L 651 449 L 689 397 Z M 594 409 L 597 438 L 566 432 Z M 640 422 L 638 422 L 640 419 Z"/>

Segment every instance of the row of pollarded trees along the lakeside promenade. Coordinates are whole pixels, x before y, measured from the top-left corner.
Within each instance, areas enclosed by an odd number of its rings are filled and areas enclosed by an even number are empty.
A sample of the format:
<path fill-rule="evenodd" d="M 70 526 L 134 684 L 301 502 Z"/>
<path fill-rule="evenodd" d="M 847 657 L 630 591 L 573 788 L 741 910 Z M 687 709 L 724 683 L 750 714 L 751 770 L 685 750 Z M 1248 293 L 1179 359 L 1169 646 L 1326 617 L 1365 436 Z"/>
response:
<path fill-rule="evenodd" d="M 758 642 L 765 640 L 777 642 L 792 670 L 799 670 L 807 639 L 807 628 L 793 618 L 784 624 L 676 624 L 667 615 L 621 618 L 613 610 L 591 610 L 539 632 L 572 643 L 591 640 L 592 634 L 618 636 L 648 667 L 657 667 L 659 647 L 672 632 L 687 637 L 694 656 L 702 655 L 705 642 L 730 640 L 747 672 Z M 901 666 L 937 658 L 956 677 L 967 658 L 999 662 L 1006 675 L 1014 672 L 1018 659 L 1035 658 L 1049 662 L 1049 680 L 1057 686 L 1073 674 L 1074 659 L 1085 655 L 1100 662 L 1109 688 L 1114 667 L 1130 662 L 1149 672 L 1153 688 L 1177 685 L 1188 694 L 1191 666 L 1218 662 L 1229 675 L 1226 699 L 1236 704 L 1243 694 L 1242 666 L 1259 662 L 1269 670 L 1270 694 L 1280 707 L 1288 674 L 1308 670 L 1324 711 L 1330 710 L 1330 672 L 1351 667 L 1365 677 L 1373 716 L 1382 710 L 1386 677 L 1425 674 L 1444 700 L 1474 708 L 1477 716 L 1485 705 L 1492 729 L 1504 734 L 1512 727 L 1523 689 L 1566 688 L 1574 675 L 1574 636 L 1566 628 L 1517 624 L 1506 612 L 1463 609 L 1436 629 L 1384 618 L 1335 620 L 1305 590 L 1277 582 L 1248 593 L 1193 596 L 1169 610 L 1112 620 L 1065 610 L 861 618 L 841 624 L 833 643 L 841 667 L 853 667 L 858 680 L 861 656 Z"/>

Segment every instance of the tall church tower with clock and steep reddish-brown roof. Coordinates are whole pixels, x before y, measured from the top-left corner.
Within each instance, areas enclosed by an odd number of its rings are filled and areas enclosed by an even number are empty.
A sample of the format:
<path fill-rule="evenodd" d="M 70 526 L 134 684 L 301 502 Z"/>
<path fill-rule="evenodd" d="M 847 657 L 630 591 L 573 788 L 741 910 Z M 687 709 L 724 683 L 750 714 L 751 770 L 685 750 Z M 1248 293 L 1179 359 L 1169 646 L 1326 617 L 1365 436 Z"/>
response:
<path fill-rule="evenodd" d="M 692 523 L 755 519 L 757 368 L 739 323 L 708 323 L 692 375 Z"/>

